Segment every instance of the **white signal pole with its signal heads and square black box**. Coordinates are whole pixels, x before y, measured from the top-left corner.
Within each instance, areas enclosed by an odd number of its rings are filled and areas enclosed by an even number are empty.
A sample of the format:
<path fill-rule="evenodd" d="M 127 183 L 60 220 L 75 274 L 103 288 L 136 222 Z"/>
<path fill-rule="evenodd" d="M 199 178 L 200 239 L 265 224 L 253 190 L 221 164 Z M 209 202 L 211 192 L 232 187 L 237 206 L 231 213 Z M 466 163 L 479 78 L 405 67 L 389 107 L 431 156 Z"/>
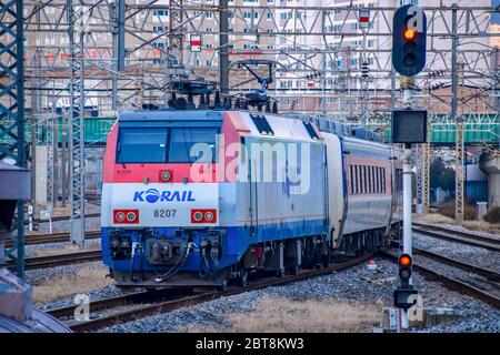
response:
<path fill-rule="evenodd" d="M 392 111 L 392 143 L 403 143 L 401 156 L 403 173 L 403 237 L 402 254 L 399 257 L 400 287 L 394 290 L 394 305 L 401 308 L 401 327 L 408 328 L 414 305 L 412 296 L 418 294 L 411 277 L 412 260 L 412 163 L 411 145 L 427 139 L 427 111 L 412 108 L 414 75 L 426 65 L 427 18 L 417 6 L 400 7 L 392 22 L 392 64 L 400 77 L 403 91 L 403 108 Z"/>

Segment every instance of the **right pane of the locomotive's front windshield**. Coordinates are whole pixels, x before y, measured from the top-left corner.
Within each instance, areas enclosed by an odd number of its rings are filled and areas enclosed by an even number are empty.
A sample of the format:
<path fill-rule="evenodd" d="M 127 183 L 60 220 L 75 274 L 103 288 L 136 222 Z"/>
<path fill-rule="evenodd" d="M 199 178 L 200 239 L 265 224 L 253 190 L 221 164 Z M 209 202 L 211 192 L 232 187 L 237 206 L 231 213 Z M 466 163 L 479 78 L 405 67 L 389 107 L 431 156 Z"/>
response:
<path fill-rule="evenodd" d="M 218 133 L 217 128 L 171 129 L 168 162 L 214 163 Z"/>

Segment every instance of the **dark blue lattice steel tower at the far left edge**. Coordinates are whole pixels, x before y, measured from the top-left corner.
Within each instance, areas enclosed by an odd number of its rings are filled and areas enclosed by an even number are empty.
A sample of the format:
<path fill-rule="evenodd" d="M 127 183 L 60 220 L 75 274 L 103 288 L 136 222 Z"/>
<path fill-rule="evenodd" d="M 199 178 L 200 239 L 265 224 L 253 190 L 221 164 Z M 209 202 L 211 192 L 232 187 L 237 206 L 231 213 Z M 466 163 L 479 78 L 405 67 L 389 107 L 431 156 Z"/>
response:
<path fill-rule="evenodd" d="M 23 0 L 0 1 L 0 160 L 26 166 Z M 24 203 L 17 204 L 13 246 L 6 255 L 24 277 Z"/>

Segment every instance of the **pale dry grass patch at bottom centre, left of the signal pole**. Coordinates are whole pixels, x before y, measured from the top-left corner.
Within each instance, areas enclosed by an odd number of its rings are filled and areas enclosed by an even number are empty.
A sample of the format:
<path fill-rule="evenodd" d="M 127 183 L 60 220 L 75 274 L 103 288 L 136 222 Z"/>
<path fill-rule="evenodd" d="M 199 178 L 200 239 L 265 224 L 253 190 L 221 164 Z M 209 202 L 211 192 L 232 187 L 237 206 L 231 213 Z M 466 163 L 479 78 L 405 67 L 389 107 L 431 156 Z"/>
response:
<path fill-rule="evenodd" d="M 236 333 L 364 333 L 378 324 L 376 308 L 337 300 L 306 302 L 263 297 L 252 313 L 232 313 L 226 321 Z M 220 332 L 188 327 L 186 332 Z"/>

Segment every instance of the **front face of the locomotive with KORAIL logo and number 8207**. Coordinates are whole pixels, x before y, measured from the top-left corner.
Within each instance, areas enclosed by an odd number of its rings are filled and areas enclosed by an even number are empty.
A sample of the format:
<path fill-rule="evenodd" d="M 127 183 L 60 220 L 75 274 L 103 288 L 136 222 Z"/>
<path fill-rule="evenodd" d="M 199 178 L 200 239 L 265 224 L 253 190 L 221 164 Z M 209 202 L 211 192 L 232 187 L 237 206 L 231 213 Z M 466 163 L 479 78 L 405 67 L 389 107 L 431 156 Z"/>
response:
<path fill-rule="evenodd" d="M 111 131 L 102 254 L 118 285 L 226 281 L 220 271 L 230 263 L 222 253 L 227 233 L 220 226 L 220 184 L 212 180 L 223 114 L 211 113 L 123 113 Z"/>

